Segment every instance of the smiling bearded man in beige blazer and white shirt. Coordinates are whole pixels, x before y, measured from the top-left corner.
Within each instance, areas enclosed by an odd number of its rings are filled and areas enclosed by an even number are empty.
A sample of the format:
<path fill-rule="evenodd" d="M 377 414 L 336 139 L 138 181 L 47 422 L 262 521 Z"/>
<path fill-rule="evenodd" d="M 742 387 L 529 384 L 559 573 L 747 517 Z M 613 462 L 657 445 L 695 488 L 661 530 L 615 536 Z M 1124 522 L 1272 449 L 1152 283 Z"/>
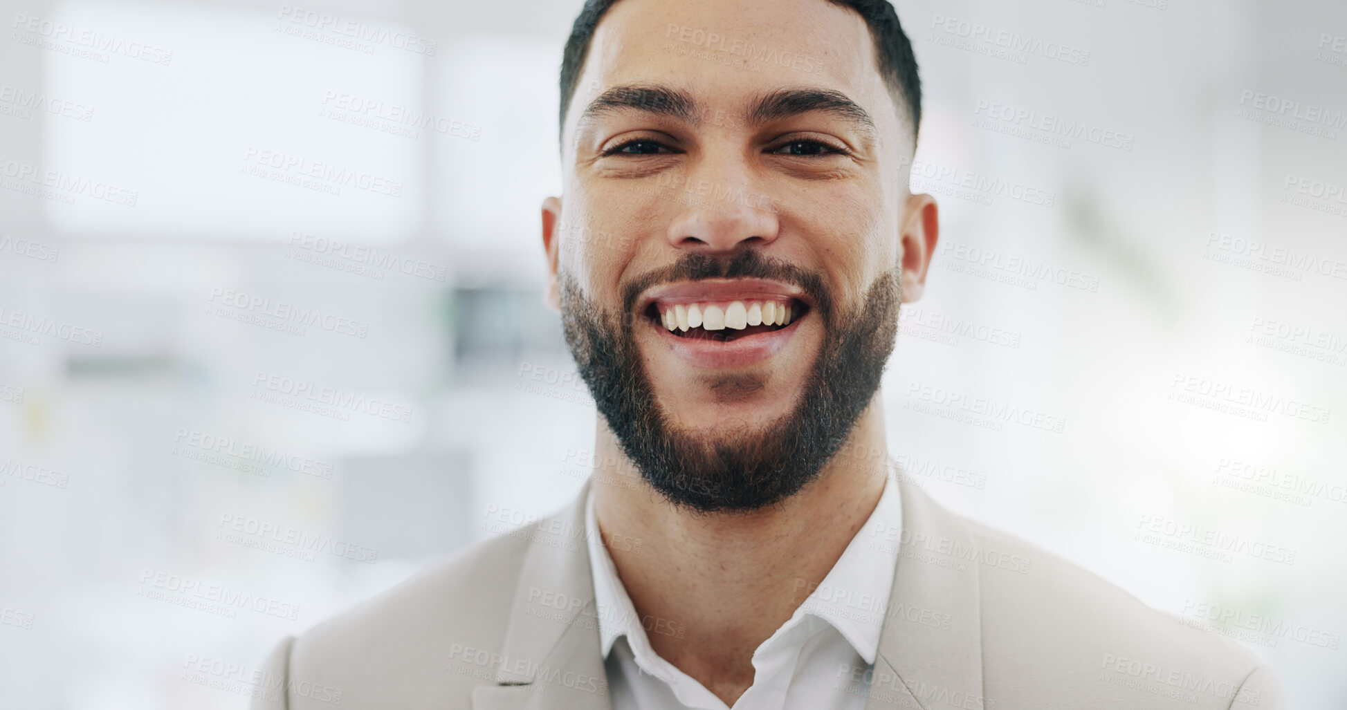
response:
<path fill-rule="evenodd" d="M 543 244 L 598 470 L 287 639 L 257 707 L 1278 707 L 1253 655 L 893 474 L 919 123 L 884 0 L 590 0 Z"/>

